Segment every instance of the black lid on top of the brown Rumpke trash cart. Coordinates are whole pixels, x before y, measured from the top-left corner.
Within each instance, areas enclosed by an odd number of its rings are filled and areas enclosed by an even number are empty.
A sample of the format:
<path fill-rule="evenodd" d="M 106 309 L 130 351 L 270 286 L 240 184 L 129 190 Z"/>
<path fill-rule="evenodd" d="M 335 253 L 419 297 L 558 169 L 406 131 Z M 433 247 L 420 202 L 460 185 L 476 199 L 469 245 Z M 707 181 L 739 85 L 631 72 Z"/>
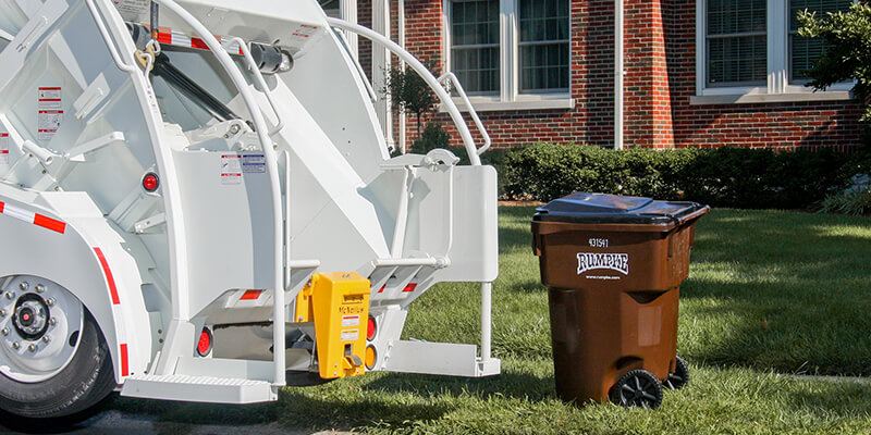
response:
<path fill-rule="evenodd" d="M 532 221 L 585 224 L 668 224 L 703 206 L 650 198 L 575 192 L 537 209 Z"/>

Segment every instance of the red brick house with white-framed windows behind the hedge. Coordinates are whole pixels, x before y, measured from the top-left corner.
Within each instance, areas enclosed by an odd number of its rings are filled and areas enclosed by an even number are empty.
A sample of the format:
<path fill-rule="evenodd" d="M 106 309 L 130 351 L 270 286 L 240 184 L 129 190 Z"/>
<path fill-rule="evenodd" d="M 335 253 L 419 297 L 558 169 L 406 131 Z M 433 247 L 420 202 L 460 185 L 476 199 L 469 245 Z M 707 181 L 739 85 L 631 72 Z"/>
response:
<path fill-rule="evenodd" d="M 849 150 L 860 140 L 852 84 L 805 87 L 801 73 L 823 45 L 795 35 L 796 12 L 846 9 L 850 0 L 321 3 L 457 74 L 495 147 L 547 140 Z M 378 88 L 391 58 L 365 41 L 353 46 Z M 414 139 L 412 123 L 393 119 L 387 102 L 380 112 L 393 126 L 389 141 Z M 452 130 L 444 114 L 438 119 Z"/>

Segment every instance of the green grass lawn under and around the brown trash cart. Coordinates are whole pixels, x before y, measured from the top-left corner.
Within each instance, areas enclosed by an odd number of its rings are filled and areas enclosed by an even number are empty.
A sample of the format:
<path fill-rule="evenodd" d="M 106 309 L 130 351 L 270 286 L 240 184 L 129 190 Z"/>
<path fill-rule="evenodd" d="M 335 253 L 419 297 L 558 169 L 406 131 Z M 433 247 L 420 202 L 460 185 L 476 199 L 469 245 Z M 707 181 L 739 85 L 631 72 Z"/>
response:
<path fill-rule="evenodd" d="M 562 403 L 553 387 L 547 289 L 531 253 L 532 208 L 500 209 L 493 352 L 482 380 L 369 373 L 285 388 L 278 403 L 212 407 L 123 399 L 159 420 L 432 434 L 871 434 L 871 220 L 714 210 L 698 226 L 682 287 L 678 353 L 690 385 L 659 410 Z M 440 285 L 406 337 L 479 341 L 479 287 Z"/>

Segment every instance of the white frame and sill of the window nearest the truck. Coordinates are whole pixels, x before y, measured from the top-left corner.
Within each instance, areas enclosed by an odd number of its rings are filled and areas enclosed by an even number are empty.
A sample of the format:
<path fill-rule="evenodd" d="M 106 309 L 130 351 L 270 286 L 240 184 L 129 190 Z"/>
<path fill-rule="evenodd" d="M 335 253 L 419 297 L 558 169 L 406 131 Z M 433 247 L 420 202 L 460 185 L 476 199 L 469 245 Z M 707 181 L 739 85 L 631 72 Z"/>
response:
<path fill-rule="evenodd" d="M 519 1 L 500 0 L 499 4 L 499 64 L 500 90 L 493 96 L 471 96 L 470 102 L 479 112 L 502 110 L 574 109 L 572 98 L 572 14 L 568 17 L 568 91 L 530 94 L 519 91 Z M 451 9 L 452 0 L 442 0 L 442 59 L 444 70 L 451 70 Z M 454 102 L 464 109 L 459 98 Z M 440 108 L 441 110 L 441 108 Z"/>

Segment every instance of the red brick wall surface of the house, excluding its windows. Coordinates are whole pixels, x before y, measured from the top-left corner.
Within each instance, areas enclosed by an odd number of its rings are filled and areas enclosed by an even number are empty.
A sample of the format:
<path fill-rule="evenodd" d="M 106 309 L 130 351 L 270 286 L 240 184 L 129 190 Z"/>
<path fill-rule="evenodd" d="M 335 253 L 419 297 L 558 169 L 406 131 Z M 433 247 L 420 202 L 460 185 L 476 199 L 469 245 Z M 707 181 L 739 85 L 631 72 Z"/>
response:
<path fill-rule="evenodd" d="M 483 112 L 494 147 L 539 140 L 613 146 L 614 3 L 571 1 L 571 110 Z M 392 9 L 395 14 L 395 1 Z M 625 2 L 625 146 L 836 147 L 859 141 L 857 105 L 844 101 L 691 105 L 696 94 L 696 0 Z M 371 2 L 360 1 L 360 23 L 371 24 Z M 396 22 L 392 23 L 396 30 Z M 443 64 L 441 0 L 406 0 L 406 47 Z M 370 63 L 370 51 L 361 60 Z M 367 52 L 369 54 L 367 54 Z M 458 136 L 445 114 L 436 116 Z M 475 135 L 477 138 L 477 135 Z M 408 122 L 408 142 L 416 137 Z"/>

